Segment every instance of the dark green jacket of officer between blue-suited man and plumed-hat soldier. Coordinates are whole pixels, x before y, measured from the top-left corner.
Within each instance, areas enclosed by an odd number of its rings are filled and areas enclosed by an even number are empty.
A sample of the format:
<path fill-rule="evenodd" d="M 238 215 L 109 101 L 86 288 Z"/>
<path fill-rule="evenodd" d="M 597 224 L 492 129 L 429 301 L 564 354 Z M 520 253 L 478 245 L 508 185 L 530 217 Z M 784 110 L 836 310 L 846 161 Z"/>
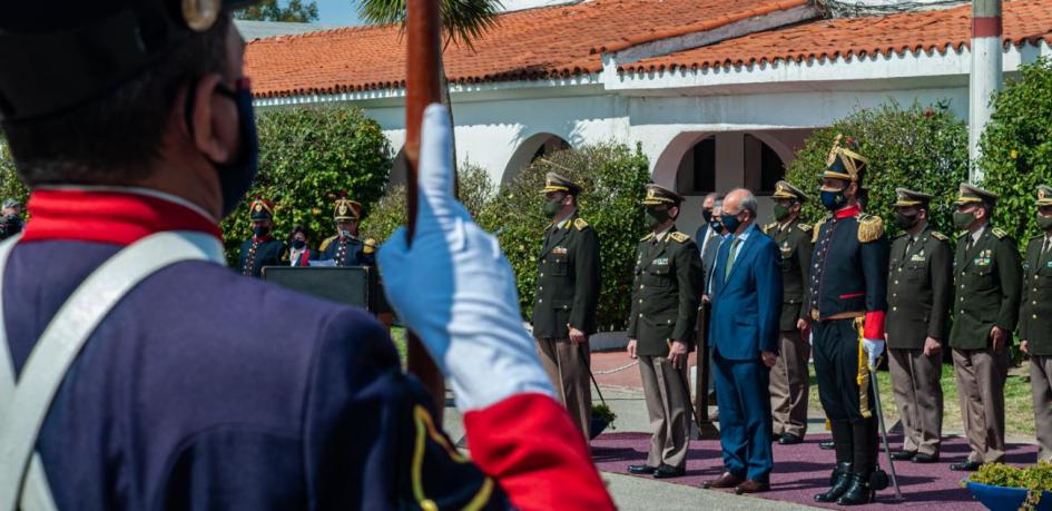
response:
<path fill-rule="evenodd" d="M 764 227 L 764 233 L 778 244 L 781 252 L 781 317 L 778 328 L 783 332 L 795 331 L 796 322 L 807 317 L 804 289 L 814 249 L 812 230 L 812 226 L 798 219 L 785 227 L 779 227 L 778 223 Z"/>

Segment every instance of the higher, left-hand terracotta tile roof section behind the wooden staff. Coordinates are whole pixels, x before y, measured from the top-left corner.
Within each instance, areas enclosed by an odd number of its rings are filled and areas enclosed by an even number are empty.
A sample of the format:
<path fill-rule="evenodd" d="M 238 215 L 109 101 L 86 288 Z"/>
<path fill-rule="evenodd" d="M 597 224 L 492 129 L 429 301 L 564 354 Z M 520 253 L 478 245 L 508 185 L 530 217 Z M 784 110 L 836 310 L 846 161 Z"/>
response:
<path fill-rule="evenodd" d="M 710 29 L 806 0 L 593 0 L 512 12 L 475 41 L 450 46 L 454 82 L 570 77 L 602 70 L 603 48 Z M 399 27 L 358 27 L 258 39 L 246 52 L 257 97 L 341 94 L 404 85 Z"/>

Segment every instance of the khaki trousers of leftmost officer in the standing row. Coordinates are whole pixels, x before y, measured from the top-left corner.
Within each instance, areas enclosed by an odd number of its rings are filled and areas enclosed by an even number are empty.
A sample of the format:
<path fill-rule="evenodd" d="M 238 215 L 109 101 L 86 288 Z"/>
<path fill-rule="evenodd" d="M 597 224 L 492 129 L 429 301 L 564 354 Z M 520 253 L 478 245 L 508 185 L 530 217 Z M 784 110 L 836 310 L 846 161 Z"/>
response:
<path fill-rule="evenodd" d="M 588 343 L 577 346 L 569 338 L 539 338 L 537 347 L 559 401 L 584 438 L 590 438 L 592 392 L 588 387 L 588 367 L 591 364 Z"/>

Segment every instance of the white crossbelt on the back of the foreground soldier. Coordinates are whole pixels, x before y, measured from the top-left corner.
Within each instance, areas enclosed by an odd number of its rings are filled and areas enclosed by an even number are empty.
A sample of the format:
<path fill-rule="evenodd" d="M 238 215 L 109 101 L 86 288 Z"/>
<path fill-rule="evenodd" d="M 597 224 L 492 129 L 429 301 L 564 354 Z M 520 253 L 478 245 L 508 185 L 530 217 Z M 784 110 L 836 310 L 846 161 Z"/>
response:
<path fill-rule="evenodd" d="M 3 269 L 17 243 L 0 244 L 0 297 Z M 35 446 L 59 385 L 77 354 L 112 307 L 157 271 L 184 261 L 224 264 L 223 245 L 203 233 L 147 236 L 100 265 L 86 278 L 45 328 L 16 384 L 0 302 L 0 511 L 55 510 L 55 500 Z"/>

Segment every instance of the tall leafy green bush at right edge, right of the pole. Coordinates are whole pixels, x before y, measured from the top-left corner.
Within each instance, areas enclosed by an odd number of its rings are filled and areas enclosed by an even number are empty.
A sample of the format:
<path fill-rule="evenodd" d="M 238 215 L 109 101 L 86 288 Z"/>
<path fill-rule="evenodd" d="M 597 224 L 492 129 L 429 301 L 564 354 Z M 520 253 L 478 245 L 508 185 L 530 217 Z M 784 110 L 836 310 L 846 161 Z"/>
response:
<path fill-rule="evenodd" d="M 1024 247 L 1038 228 L 1036 185 L 1052 184 L 1052 60 L 1020 67 L 994 95 L 993 117 L 981 143 L 983 186 L 1001 195 L 994 222 Z"/>

